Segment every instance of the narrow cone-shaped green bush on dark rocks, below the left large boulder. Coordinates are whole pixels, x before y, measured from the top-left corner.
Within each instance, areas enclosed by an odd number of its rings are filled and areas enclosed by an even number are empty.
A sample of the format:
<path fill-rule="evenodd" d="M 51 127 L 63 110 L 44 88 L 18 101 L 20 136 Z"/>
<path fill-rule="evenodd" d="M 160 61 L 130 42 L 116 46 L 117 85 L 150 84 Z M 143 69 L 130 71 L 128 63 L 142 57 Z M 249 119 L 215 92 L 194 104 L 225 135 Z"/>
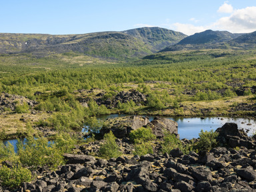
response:
<path fill-rule="evenodd" d="M 122 154 L 115 139 L 116 138 L 111 131 L 104 135 L 105 144 L 101 144 L 99 149 L 99 155 L 101 155 L 101 157 L 119 157 Z"/>

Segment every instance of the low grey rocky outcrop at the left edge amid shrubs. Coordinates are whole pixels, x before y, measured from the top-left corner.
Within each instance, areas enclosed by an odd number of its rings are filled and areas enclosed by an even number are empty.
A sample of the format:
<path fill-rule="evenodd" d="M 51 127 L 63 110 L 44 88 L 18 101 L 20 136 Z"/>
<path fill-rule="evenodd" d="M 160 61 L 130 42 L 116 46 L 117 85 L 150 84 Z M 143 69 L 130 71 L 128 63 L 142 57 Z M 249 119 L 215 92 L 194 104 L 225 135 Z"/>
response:
<path fill-rule="evenodd" d="M 29 100 L 25 96 L 18 96 L 15 94 L 8 94 L 2 92 L 0 94 L 0 111 L 4 111 L 5 108 L 9 108 L 12 111 L 15 111 L 15 108 L 18 104 L 27 103 L 29 106 L 33 107 L 37 102 L 34 100 Z"/>

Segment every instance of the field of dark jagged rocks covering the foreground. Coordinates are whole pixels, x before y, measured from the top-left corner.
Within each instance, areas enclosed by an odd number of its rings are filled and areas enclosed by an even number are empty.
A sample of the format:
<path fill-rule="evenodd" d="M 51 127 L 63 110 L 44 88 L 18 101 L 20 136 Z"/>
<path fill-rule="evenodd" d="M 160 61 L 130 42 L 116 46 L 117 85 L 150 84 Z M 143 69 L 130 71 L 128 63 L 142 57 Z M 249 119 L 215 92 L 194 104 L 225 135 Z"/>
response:
<path fill-rule="evenodd" d="M 256 191 L 255 154 L 245 147 L 215 147 L 207 153 L 213 158 L 203 163 L 194 152 L 109 160 L 65 154 L 69 164 L 39 169 L 38 179 L 19 191 Z"/>

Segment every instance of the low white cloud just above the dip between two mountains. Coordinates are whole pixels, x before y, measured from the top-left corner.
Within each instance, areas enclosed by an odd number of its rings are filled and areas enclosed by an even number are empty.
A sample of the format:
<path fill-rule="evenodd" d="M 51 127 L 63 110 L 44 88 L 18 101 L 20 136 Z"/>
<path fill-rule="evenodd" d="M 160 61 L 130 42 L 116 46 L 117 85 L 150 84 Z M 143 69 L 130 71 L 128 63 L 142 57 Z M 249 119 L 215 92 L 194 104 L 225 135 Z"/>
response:
<path fill-rule="evenodd" d="M 175 28 L 175 31 L 180 31 L 185 35 L 193 35 L 194 33 L 199 33 L 207 30 L 207 27 L 195 26 L 195 25 L 184 24 L 184 23 L 174 23 L 173 27 Z"/>

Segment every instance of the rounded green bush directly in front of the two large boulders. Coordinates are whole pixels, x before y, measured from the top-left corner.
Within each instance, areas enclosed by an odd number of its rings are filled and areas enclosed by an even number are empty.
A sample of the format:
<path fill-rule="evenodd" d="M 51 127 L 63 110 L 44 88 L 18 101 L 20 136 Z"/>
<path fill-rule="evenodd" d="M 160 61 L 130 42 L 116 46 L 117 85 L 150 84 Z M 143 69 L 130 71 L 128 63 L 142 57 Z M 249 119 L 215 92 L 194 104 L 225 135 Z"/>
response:
<path fill-rule="evenodd" d="M 130 132 L 130 140 L 135 142 L 135 140 L 141 140 L 142 142 L 148 142 L 151 140 L 156 140 L 156 136 L 153 134 L 151 128 L 139 128 Z"/>

